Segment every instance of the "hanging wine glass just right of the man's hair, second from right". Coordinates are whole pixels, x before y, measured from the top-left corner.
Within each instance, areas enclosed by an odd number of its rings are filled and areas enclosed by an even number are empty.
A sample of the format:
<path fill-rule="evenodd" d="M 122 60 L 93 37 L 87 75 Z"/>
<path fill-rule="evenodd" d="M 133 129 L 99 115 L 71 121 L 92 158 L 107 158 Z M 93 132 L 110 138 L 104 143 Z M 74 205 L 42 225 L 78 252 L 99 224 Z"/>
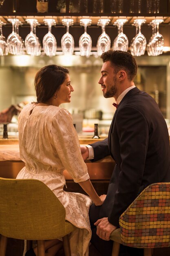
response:
<path fill-rule="evenodd" d="M 145 19 L 137 19 L 134 20 L 134 23 L 137 23 L 138 25 L 138 34 L 132 39 L 131 43 L 131 49 L 132 54 L 134 56 L 141 56 L 144 55 L 145 49 L 146 49 L 146 38 L 143 34 L 141 34 L 141 25 L 146 22 Z"/>

